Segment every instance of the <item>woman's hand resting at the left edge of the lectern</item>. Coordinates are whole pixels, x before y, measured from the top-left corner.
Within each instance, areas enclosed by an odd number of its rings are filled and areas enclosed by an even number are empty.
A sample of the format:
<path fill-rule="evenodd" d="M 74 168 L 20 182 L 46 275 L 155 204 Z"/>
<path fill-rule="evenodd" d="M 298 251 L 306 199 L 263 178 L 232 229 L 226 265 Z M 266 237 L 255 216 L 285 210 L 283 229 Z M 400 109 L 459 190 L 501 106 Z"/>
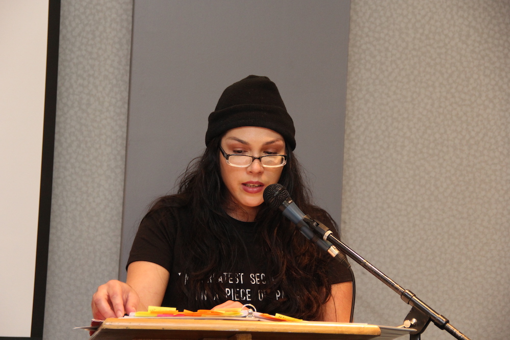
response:
<path fill-rule="evenodd" d="M 135 312 L 140 298 L 127 283 L 110 280 L 100 285 L 92 296 L 92 317 L 97 320 L 122 318 Z"/>

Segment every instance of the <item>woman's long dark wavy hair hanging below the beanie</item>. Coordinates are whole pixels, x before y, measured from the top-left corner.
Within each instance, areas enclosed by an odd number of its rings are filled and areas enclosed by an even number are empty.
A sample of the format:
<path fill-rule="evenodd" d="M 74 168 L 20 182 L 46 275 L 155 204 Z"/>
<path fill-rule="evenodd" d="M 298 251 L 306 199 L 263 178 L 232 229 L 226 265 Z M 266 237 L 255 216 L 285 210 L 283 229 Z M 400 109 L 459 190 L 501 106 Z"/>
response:
<path fill-rule="evenodd" d="M 223 302 L 221 283 L 211 282 L 210 278 L 218 270 L 232 268 L 238 252 L 243 251 L 235 232 L 228 228 L 230 220 L 225 206 L 231 202 L 221 179 L 220 142 L 221 136 L 213 139 L 202 156 L 190 162 L 180 177 L 177 194 L 162 197 L 150 209 L 187 206 L 193 212 L 186 232 L 193 237 L 186 241 L 189 255 L 184 264 L 189 280 L 182 286 L 187 296 L 187 309 L 198 309 L 197 297 L 203 292 L 207 301 L 215 301 L 210 307 Z M 302 211 L 336 228 L 333 219 L 312 204 L 301 167 L 291 150 L 287 150 L 287 154 L 279 183 L 287 188 Z M 326 265 L 330 257 L 305 239 L 279 211 L 271 210 L 265 203 L 260 206 L 256 223 L 257 237 L 261 238 L 268 263 L 266 274 L 272 278 L 265 287 L 265 296 L 274 296 L 277 290 L 285 292 L 284 298 L 265 300 L 263 311 L 304 320 L 320 319 L 321 306 L 331 293 Z"/>

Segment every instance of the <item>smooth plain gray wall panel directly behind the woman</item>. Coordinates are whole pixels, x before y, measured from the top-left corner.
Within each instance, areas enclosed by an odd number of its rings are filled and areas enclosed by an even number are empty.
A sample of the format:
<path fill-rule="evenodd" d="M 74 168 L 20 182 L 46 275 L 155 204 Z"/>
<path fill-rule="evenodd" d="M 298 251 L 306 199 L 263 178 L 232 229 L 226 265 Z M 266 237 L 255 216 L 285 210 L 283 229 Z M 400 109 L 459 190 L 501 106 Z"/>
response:
<path fill-rule="evenodd" d="M 121 278 L 147 205 L 205 148 L 249 74 L 278 86 L 317 203 L 340 221 L 350 2 L 135 2 Z"/>

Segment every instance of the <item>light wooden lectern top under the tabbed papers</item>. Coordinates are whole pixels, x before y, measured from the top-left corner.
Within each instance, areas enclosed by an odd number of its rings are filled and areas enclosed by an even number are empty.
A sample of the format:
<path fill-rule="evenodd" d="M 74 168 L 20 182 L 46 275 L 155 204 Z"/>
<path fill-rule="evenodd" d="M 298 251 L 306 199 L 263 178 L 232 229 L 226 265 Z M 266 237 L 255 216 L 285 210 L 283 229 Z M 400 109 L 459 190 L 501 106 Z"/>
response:
<path fill-rule="evenodd" d="M 351 323 L 123 318 L 106 319 L 90 340 L 391 340 L 411 331 Z"/>

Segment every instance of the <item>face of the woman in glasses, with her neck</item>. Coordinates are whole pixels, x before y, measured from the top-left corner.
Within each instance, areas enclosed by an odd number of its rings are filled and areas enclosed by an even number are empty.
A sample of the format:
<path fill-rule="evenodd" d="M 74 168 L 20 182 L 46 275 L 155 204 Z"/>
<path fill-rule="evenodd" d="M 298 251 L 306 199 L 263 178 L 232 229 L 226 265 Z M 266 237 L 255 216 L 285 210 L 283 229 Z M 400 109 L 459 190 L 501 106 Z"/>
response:
<path fill-rule="evenodd" d="M 282 135 L 264 127 L 236 127 L 223 136 L 221 147 L 227 154 L 248 154 L 259 157 L 267 154 L 286 154 Z M 264 202 L 264 189 L 278 182 L 283 167 L 264 168 L 260 160 L 254 160 L 246 168 L 226 163 L 220 153 L 221 178 L 230 194 L 233 210 L 228 214 L 238 220 L 253 221 L 258 207 Z M 247 214 L 247 215 L 246 215 Z"/>

